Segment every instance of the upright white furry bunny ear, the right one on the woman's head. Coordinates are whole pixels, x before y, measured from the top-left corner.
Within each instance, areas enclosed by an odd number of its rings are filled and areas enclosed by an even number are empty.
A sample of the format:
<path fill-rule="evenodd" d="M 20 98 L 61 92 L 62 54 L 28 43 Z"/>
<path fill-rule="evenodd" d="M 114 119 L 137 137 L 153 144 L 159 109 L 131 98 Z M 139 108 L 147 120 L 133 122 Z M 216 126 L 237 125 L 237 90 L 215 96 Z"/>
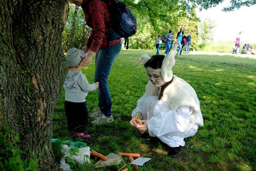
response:
<path fill-rule="evenodd" d="M 177 45 L 172 46 L 171 51 L 164 57 L 162 66 L 161 66 L 161 75 L 165 82 L 172 80 L 172 66 L 175 64 L 175 54 L 177 50 Z"/>

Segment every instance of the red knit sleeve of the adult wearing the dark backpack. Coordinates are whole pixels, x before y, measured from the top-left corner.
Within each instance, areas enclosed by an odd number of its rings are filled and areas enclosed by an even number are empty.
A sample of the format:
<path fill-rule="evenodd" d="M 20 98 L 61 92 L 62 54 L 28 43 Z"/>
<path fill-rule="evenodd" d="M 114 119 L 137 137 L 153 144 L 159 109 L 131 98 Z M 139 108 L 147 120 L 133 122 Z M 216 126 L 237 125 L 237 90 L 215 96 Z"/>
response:
<path fill-rule="evenodd" d="M 102 1 L 92 1 L 89 4 L 89 13 L 92 17 L 93 23 L 93 40 L 90 50 L 98 52 L 102 44 L 102 40 L 105 37 L 105 10 L 107 9 L 107 4 Z M 87 44 L 87 43 L 86 43 Z"/>

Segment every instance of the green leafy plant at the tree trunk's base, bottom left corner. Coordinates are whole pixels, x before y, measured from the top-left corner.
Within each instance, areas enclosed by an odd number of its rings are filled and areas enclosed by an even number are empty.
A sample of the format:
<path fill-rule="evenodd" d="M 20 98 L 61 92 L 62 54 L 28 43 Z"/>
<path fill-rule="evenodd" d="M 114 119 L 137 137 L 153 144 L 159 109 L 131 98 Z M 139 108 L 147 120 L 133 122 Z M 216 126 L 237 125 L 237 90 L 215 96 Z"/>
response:
<path fill-rule="evenodd" d="M 14 130 L 11 130 L 9 125 L 6 125 L 4 132 L 0 132 L 0 168 L 2 170 L 12 171 L 38 170 L 37 163 L 41 155 L 37 158 L 36 154 L 30 154 L 30 156 L 34 157 L 30 157 L 30 159 L 24 161 L 21 159 L 21 155 L 24 152 L 19 149 L 19 142 L 19 135 L 15 134 Z M 44 150 L 42 153 L 43 152 Z"/>

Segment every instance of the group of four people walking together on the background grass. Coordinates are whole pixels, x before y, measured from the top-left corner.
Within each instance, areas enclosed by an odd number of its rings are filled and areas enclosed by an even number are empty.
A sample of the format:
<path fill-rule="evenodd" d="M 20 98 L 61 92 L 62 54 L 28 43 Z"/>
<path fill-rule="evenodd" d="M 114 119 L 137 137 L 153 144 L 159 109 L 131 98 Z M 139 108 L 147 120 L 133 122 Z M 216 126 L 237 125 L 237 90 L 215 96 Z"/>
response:
<path fill-rule="evenodd" d="M 173 34 L 172 30 L 169 30 L 169 33 L 164 35 L 161 39 L 161 35 L 157 36 L 156 39 L 156 55 L 159 54 L 160 48 L 162 47 L 163 42 L 165 42 L 166 50 L 164 51 L 164 56 L 166 56 L 169 51 L 172 49 L 173 45 Z M 177 33 L 175 43 L 178 45 L 177 56 L 181 56 L 184 46 L 186 46 L 186 53 L 189 53 L 189 46 L 191 44 L 191 33 L 189 32 L 188 36 L 184 33 L 184 28 L 181 27 L 180 31 Z"/>

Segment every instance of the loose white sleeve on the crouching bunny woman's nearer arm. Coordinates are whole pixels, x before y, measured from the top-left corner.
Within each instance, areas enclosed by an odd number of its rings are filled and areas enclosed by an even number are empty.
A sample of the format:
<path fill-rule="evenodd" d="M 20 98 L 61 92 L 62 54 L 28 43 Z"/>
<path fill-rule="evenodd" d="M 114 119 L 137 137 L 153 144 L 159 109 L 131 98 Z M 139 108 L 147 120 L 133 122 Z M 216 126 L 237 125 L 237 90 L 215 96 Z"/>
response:
<path fill-rule="evenodd" d="M 188 129 L 191 113 L 188 106 L 180 106 L 177 111 L 159 113 L 147 122 L 149 135 L 150 131 L 156 136 L 184 133 Z"/>

